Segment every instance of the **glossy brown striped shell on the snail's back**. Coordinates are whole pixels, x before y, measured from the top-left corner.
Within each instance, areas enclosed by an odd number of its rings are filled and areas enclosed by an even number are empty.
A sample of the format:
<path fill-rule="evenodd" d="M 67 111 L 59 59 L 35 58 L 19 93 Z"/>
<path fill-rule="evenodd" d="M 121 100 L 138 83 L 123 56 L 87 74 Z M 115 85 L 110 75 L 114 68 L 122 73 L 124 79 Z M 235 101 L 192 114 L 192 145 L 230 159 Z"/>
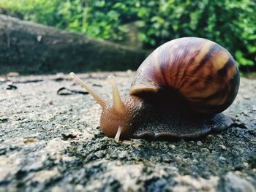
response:
<path fill-rule="evenodd" d="M 225 48 L 208 39 L 184 37 L 148 55 L 129 94 L 175 91 L 192 110 L 215 114 L 232 104 L 238 87 L 238 67 Z"/>

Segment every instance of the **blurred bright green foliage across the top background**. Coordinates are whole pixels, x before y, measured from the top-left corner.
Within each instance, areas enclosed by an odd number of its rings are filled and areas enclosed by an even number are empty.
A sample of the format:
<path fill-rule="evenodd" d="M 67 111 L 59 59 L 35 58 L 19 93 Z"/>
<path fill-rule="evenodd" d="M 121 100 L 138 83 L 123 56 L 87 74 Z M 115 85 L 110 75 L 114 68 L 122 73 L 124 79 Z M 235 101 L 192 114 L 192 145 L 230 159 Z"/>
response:
<path fill-rule="evenodd" d="M 25 20 L 120 41 L 124 24 L 140 20 L 147 48 L 178 37 L 204 37 L 226 47 L 244 69 L 256 69 L 254 0 L 1 0 Z"/>

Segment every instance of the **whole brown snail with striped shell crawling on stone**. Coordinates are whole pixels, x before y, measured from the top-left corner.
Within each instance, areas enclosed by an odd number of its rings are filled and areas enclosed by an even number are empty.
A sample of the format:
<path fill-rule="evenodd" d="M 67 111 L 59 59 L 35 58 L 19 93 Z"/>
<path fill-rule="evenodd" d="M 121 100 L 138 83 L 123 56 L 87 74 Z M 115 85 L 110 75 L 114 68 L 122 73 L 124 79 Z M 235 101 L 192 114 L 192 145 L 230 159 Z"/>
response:
<path fill-rule="evenodd" d="M 105 101 L 70 73 L 102 107 L 99 126 L 119 139 L 200 137 L 222 131 L 233 120 L 221 112 L 239 88 L 236 61 L 208 39 L 184 37 L 157 47 L 139 66 L 129 95 L 121 98 L 113 76 L 113 102 Z"/>

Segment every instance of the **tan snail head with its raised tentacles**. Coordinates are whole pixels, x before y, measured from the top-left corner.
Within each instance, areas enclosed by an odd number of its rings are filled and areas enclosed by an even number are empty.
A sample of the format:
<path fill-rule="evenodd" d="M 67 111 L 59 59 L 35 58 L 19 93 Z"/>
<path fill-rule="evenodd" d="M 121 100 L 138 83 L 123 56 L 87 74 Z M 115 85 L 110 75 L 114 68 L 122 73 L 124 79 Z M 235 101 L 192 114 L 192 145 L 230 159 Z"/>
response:
<path fill-rule="evenodd" d="M 130 133 L 130 116 L 132 115 L 132 108 L 135 107 L 135 104 L 132 104 L 132 99 L 130 96 L 127 96 L 123 100 L 120 97 L 118 88 L 116 85 L 116 80 L 113 75 L 108 76 L 108 82 L 112 86 L 113 101 L 105 101 L 97 93 L 91 90 L 85 82 L 80 80 L 73 72 L 70 73 L 76 82 L 78 82 L 89 94 L 97 101 L 97 103 L 102 107 L 102 115 L 100 118 L 100 128 L 108 137 L 114 137 L 116 141 L 120 137 L 125 138 L 129 137 Z"/>

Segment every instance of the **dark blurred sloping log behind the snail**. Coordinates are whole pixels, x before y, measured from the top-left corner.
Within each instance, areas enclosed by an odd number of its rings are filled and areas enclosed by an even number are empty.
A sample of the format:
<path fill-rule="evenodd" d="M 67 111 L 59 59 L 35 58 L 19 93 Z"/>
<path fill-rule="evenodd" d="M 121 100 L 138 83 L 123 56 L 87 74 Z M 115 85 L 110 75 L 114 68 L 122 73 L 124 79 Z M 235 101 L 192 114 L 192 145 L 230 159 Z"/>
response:
<path fill-rule="evenodd" d="M 137 69 L 148 52 L 0 15 L 0 74 Z"/>

